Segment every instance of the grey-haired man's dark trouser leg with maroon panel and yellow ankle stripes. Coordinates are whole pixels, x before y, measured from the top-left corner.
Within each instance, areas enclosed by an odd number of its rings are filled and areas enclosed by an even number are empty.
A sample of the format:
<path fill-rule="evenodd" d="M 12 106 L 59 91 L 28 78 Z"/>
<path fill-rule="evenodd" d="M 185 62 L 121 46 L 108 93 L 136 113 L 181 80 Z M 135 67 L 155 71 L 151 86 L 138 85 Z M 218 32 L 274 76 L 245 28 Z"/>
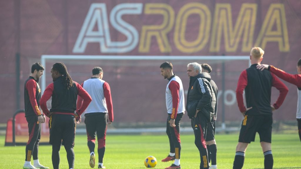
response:
<path fill-rule="evenodd" d="M 201 114 L 197 114 L 197 117 L 193 119 L 194 121 L 194 143 L 200 152 L 200 169 L 209 168 L 208 152 L 206 146 L 206 131 L 207 131 L 207 121 L 206 118 Z"/>

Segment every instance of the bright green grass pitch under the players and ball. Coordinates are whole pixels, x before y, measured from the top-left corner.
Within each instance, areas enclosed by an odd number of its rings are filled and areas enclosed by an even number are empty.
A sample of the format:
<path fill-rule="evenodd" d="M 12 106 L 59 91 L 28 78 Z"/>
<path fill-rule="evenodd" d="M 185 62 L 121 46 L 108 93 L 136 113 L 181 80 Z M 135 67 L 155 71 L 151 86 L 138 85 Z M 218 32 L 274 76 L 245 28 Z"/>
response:
<path fill-rule="evenodd" d="M 22 168 L 25 159 L 25 146 L 3 146 L 4 136 L 0 136 L 0 168 Z M 218 147 L 217 165 L 219 169 L 231 169 L 238 134 L 216 134 Z M 301 143 L 297 133 L 273 134 L 272 152 L 274 169 L 301 168 Z M 194 135 L 181 135 L 182 151 L 181 166 L 184 169 L 199 167 L 200 156 L 194 145 Z M 96 146 L 97 147 L 97 146 Z M 88 146 L 85 135 L 76 135 L 75 140 L 75 168 L 90 168 Z M 153 155 L 158 164 L 155 168 L 168 167 L 171 162 L 163 163 L 161 159 L 169 153 L 169 142 L 166 135 L 107 135 L 104 164 L 108 169 L 140 169 L 144 167 L 144 159 Z M 60 168 L 68 168 L 66 151 L 61 147 Z M 96 159 L 98 155 L 96 154 Z M 50 168 L 51 146 L 40 146 L 39 161 Z M 97 160 L 95 160 L 97 161 Z M 264 168 L 264 157 L 259 143 L 259 136 L 247 149 L 244 169 Z M 33 161 L 32 161 L 33 163 Z"/>

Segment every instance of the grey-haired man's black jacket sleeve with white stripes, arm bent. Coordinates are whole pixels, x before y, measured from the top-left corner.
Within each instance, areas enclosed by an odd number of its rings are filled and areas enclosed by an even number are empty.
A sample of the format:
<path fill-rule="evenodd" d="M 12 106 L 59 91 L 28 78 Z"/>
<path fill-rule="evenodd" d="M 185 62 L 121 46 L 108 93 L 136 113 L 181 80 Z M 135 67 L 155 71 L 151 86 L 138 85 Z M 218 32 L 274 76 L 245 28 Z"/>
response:
<path fill-rule="evenodd" d="M 202 98 L 200 99 L 199 103 L 197 104 L 197 109 L 201 110 L 208 103 L 210 103 L 212 94 L 211 94 L 211 90 L 210 90 L 208 84 L 205 83 L 202 78 L 198 78 L 197 81 L 199 83 L 198 91 L 203 94 Z"/>

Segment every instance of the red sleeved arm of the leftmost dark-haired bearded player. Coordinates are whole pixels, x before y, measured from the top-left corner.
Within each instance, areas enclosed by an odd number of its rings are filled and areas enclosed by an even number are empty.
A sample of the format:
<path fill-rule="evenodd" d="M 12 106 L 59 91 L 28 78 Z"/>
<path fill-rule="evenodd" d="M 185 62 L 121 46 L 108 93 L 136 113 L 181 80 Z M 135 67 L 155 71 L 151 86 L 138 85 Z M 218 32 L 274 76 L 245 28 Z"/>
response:
<path fill-rule="evenodd" d="M 33 107 L 33 111 L 35 112 L 35 114 L 37 116 L 40 116 L 40 115 L 42 115 L 42 113 L 40 112 L 38 103 L 36 101 L 36 88 L 37 88 L 36 81 L 34 81 L 34 80 L 27 81 L 26 89 L 27 89 L 28 94 L 29 94 L 30 104 Z"/>

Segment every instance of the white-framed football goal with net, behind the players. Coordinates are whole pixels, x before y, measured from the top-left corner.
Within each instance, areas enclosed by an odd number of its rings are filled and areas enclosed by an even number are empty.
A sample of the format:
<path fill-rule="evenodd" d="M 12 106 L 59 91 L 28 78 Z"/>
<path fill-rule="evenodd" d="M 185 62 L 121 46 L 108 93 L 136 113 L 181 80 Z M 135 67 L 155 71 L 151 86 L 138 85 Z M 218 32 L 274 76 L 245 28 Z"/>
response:
<path fill-rule="evenodd" d="M 241 120 L 237 116 L 235 90 L 240 72 L 250 66 L 249 56 L 42 55 L 45 70 L 41 89 L 43 92 L 52 83 L 50 70 L 56 62 L 64 63 L 71 78 L 79 84 L 92 76 L 95 66 L 100 66 L 104 71 L 103 80 L 111 88 L 114 126 L 137 127 L 141 124 L 156 127 L 166 121 L 167 115 L 165 89 L 168 82 L 160 75 L 160 65 L 165 61 L 173 64 L 174 74 L 182 79 L 185 99 L 189 86 L 187 64 L 208 63 L 213 69 L 210 75 L 219 88 L 218 121 Z M 48 107 L 50 102 L 51 99 Z M 185 115 L 182 121 L 189 122 L 189 118 Z"/>

